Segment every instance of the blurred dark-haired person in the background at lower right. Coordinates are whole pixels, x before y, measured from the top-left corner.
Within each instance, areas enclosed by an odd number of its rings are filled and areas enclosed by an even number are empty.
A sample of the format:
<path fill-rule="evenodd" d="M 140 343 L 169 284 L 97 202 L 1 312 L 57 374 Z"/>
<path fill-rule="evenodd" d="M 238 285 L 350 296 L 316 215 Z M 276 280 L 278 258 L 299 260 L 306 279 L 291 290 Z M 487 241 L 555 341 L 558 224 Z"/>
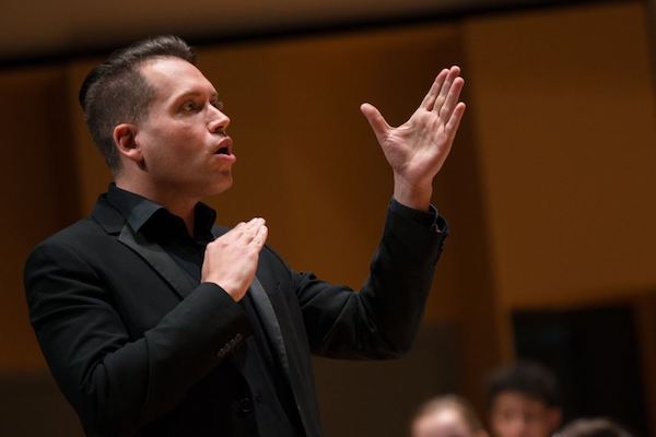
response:
<path fill-rule="evenodd" d="M 489 381 L 488 405 L 494 437 L 549 437 L 561 424 L 558 381 L 538 363 L 496 370 Z"/>

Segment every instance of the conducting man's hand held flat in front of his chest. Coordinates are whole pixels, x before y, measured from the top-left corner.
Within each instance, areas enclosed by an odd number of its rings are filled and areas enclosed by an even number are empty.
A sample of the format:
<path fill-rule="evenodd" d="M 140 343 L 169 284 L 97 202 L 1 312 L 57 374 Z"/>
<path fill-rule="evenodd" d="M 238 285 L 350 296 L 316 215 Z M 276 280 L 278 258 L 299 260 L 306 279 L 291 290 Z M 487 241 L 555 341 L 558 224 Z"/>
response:
<path fill-rule="evenodd" d="M 255 277 L 267 234 L 265 220 L 253 218 L 210 243 L 202 261 L 201 282 L 218 284 L 239 302 Z"/>

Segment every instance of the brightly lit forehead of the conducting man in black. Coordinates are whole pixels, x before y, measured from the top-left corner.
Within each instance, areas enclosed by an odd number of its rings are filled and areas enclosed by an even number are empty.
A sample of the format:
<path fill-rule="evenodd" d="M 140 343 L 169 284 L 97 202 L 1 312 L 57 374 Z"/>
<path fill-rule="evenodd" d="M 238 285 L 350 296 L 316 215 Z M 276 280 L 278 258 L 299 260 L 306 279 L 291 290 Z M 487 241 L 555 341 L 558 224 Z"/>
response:
<path fill-rule="evenodd" d="M 160 97 L 175 97 L 190 92 L 215 93 L 214 86 L 202 72 L 184 59 L 154 58 L 145 62 L 140 71 Z"/>

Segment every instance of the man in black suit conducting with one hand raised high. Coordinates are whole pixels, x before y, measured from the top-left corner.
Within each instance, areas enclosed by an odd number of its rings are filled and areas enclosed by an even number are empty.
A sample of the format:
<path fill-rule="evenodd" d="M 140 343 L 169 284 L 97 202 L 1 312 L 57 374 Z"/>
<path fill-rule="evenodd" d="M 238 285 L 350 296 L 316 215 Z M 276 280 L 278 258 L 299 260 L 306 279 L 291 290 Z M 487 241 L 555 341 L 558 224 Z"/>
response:
<path fill-rule="evenodd" d="M 465 105 L 443 70 L 408 122 L 363 105 L 393 167 L 361 293 L 291 270 L 262 218 L 213 226 L 200 202 L 235 163 L 216 91 L 163 36 L 113 54 L 80 102 L 115 184 L 25 268 L 31 321 L 89 435 L 319 436 L 311 353 L 388 358 L 418 330 L 446 224 L 430 206 Z"/>

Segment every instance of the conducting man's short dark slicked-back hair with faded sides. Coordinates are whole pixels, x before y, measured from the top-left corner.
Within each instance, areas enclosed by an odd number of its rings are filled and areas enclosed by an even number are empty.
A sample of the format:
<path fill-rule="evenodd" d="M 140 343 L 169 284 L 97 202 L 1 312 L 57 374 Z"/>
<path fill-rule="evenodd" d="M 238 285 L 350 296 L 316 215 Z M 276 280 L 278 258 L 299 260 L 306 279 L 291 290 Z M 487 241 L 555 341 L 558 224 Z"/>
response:
<path fill-rule="evenodd" d="M 120 160 L 114 145 L 114 128 L 147 118 L 155 90 L 141 74 L 140 67 L 159 57 L 196 63 L 194 51 L 183 39 L 173 35 L 156 36 L 114 51 L 86 75 L 80 87 L 78 97 L 86 126 L 115 175 L 120 172 Z"/>

